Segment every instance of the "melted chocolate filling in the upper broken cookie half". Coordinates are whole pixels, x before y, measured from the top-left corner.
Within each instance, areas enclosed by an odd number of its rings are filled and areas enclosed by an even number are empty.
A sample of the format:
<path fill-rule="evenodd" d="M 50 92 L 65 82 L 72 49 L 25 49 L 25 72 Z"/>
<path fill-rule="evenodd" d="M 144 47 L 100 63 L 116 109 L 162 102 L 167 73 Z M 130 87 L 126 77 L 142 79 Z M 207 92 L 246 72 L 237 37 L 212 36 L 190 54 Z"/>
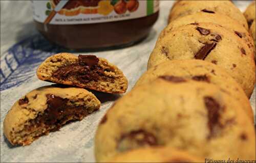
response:
<path fill-rule="evenodd" d="M 54 77 L 66 80 L 78 80 L 88 83 L 92 80 L 98 81 L 103 75 L 103 68 L 98 66 L 99 59 L 92 55 L 79 55 L 78 63 L 62 66 L 53 73 Z"/>

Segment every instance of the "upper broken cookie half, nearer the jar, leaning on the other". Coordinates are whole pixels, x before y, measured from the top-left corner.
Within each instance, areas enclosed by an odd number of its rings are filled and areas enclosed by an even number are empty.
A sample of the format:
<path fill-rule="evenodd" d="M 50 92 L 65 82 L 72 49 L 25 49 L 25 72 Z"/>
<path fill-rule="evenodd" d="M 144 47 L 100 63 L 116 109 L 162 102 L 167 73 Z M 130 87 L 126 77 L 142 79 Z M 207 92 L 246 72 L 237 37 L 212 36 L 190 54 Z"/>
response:
<path fill-rule="evenodd" d="M 93 55 L 58 53 L 37 69 L 37 77 L 57 84 L 72 85 L 106 93 L 124 93 L 127 79 L 122 71 Z"/>

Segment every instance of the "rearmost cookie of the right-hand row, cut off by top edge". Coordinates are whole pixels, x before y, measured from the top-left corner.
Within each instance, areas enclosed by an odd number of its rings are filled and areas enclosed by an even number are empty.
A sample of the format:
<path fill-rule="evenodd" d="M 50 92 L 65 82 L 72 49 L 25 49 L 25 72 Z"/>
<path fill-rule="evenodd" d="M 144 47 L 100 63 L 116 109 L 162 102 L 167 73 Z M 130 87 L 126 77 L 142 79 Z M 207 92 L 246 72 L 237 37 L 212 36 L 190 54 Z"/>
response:
<path fill-rule="evenodd" d="M 248 30 L 248 25 L 244 15 L 230 1 L 179 1 L 170 11 L 169 22 L 185 15 L 203 11 L 206 13 L 219 13 L 226 15 L 244 26 Z"/>

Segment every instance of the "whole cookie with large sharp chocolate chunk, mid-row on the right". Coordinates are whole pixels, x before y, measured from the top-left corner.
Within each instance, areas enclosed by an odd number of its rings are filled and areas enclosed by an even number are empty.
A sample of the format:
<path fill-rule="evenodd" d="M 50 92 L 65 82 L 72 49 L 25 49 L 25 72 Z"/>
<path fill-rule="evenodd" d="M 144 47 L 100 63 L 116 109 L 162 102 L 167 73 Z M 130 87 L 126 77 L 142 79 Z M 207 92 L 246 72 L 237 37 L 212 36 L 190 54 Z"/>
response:
<path fill-rule="evenodd" d="M 159 37 L 147 68 L 184 59 L 205 60 L 221 66 L 250 97 L 255 83 L 254 53 L 238 34 L 213 23 L 181 26 Z"/>

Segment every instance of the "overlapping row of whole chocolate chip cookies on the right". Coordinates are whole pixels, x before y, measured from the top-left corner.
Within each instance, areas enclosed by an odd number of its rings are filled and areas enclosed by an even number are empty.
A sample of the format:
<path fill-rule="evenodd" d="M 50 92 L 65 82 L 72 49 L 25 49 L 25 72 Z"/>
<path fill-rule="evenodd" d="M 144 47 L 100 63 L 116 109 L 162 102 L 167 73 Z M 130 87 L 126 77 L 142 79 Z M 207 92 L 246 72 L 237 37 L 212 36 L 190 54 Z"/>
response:
<path fill-rule="evenodd" d="M 246 18 L 231 1 L 177 1 L 168 21 L 147 72 L 102 118 L 96 160 L 255 162 Z"/>

